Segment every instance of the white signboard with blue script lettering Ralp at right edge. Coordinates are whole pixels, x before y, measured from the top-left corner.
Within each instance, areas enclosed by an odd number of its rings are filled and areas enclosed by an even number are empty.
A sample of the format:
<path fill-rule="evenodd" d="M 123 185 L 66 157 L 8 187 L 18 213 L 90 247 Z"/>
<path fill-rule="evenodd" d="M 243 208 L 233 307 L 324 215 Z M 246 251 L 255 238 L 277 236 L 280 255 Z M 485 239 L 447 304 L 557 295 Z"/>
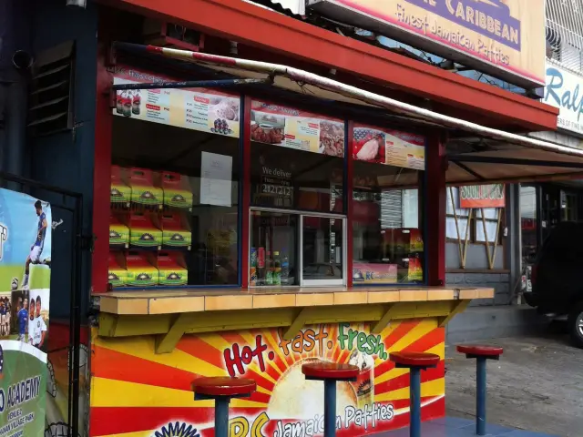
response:
<path fill-rule="evenodd" d="M 557 127 L 570 132 L 583 134 L 583 77 L 547 63 L 547 86 L 545 100 L 547 105 L 558 107 Z"/>

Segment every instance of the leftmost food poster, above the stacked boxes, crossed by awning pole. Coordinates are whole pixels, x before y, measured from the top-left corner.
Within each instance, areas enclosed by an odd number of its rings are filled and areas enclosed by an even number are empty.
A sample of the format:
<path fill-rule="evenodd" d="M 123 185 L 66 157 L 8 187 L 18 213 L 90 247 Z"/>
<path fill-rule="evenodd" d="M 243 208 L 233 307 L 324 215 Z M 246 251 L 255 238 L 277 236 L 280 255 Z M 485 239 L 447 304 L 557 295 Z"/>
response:
<path fill-rule="evenodd" d="M 128 66 L 114 73 L 114 85 L 169 81 Z M 240 97 L 206 88 L 117 91 L 113 114 L 238 138 Z"/>

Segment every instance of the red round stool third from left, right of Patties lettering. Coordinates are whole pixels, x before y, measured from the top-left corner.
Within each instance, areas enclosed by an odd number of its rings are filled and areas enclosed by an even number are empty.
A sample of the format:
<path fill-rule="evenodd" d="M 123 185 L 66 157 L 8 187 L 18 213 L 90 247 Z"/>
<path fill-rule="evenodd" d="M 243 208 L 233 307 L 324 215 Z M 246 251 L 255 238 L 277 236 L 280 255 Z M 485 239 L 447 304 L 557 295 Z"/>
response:
<path fill-rule="evenodd" d="M 435 367 L 440 361 L 439 355 L 424 352 L 391 352 L 389 360 L 394 367 L 409 369 L 409 402 L 411 403 L 411 424 L 409 435 L 421 436 L 421 371 Z"/>

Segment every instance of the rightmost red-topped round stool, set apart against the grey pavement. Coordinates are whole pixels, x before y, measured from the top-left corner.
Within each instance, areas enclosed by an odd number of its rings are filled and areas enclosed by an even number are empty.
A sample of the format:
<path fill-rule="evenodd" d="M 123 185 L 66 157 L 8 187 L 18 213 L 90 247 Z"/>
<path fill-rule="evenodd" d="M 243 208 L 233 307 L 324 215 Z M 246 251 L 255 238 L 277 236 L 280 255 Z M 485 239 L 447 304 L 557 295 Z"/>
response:
<path fill-rule="evenodd" d="M 486 435 L 486 360 L 499 360 L 504 351 L 496 346 L 460 344 L 465 358 L 476 359 L 476 434 Z"/>

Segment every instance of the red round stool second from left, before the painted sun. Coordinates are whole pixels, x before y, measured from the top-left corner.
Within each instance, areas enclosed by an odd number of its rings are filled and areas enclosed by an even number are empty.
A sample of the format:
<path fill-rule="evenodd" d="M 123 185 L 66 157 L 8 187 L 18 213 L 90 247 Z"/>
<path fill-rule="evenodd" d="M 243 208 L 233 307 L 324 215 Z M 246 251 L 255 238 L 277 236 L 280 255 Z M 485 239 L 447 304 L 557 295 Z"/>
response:
<path fill-rule="evenodd" d="M 324 437 L 336 435 L 336 381 L 356 381 L 358 372 L 352 364 L 319 361 L 302 365 L 306 380 L 324 381 Z"/>

